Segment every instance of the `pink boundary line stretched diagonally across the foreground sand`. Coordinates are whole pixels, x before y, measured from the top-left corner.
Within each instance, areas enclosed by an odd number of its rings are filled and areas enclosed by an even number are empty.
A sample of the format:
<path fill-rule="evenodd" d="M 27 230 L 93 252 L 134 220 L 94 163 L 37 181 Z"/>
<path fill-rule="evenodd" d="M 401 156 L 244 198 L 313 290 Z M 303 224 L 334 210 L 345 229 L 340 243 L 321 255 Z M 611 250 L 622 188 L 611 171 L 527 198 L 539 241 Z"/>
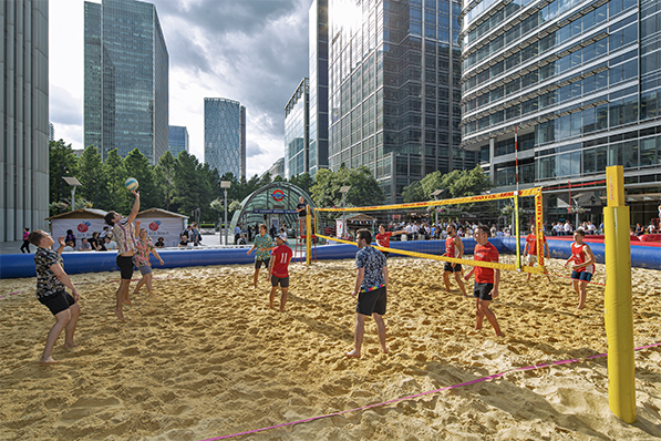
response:
<path fill-rule="evenodd" d="M 657 347 L 657 346 L 661 346 L 661 342 L 657 342 L 657 343 L 652 343 L 652 345 L 647 345 L 647 346 L 641 346 L 639 348 L 634 348 L 633 350 L 638 351 L 638 350 L 642 350 L 642 349 L 653 348 L 653 347 Z M 495 379 L 504 377 L 506 373 L 510 373 L 510 372 L 527 371 L 527 370 L 537 370 L 537 369 L 550 368 L 551 366 L 568 365 L 568 363 L 575 363 L 575 362 L 583 362 L 583 361 L 587 361 L 587 360 L 591 360 L 591 359 L 600 358 L 600 357 L 607 357 L 607 356 L 608 356 L 608 352 L 606 352 L 606 353 L 598 353 L 598 355 L 589 356 L 589 357 L 586 357 L 586 358 L 571 358 L 571 359 L 568 359 L 568 360 L 549 361 L 549 362 L 540 363 L 540 365 L 530 365 L 530 366 L 526 366 L 526 367 L 523 367 L 523 368 L 508 369 L 506 371 L 494 373 L 492 376 L 482 377 L 482 378 L 478 378 L 476 380 L 465 381 L 465 382 L 462 382 L 462 383 L 458 383 L 458 384 L 453 384 L 453 386 L 446 386 L 445 388 L 430 390 L 430 391 L 426 391 L 426 392 L 421 392 L 421 393 L 416 393 L 416 394 L 407 396 L 407 397 L 403 397 L 403 398 L 395 398 L 394 400 L 384 401 L 384 402 L 380 402 L 380 403 L 376 403 L 376 404 L 369 404 L 369 406 L 363 406 L 363 407 L 355 408 L 355 409 L 343 410 L 341 412 L 334 412 L 334 413 L 329 413 L 329 414 L 324 414 L 324 416 L 306 418 L 304 420 L 285 422 L 282 424 L 269 425 L 267 428 L 248 430 L 246 432 L 238 432 L 238 433 L 233 433 L 233 434 L 226 434 L 226 435 L 217 437 L 217 438 L 207 438 L 207 439 L 204 439 L 204 440 L 200 440 L 200 441 L 225 440 L 225 439 L 228 439 L 228 438 L 240 437 L 240 435 L 244 435 L 244 434 L 251 434 L 251 433 L 257 433 L 257 432 L 264 432 L 264 431 L 271 430 L 271 429 L 279 429 L 279 428 L 287 427 L 287 425 L 301 424 L 303 422 L 310 422 L 310 421 L 321 420 L 323 418 L 338 417 L 338 416 L 341 416 L 341 414 L 344 414 L 344 413 L 349 413 L 349 412 L 357 412 L 359 410 L 366 410 L 366 409 L 376 408 L 376 407 L 381 407 L 381 406 L 385 406 L 385 404 L 392 404 L 392 403 L 400 402 L 400 401 L 412 400 L 414 398 L 419 398 L 419 397 L 423 397 L 423 396 L 427 396 L 427 394 L 432 394 L 432 393 L 438 393 L 438 392 L 442 392 L 442 391 L 445 391 L 445 390 L 461 388 L 463 386 L 469 386 L 469 384 L 475 384 L 475 383 L 478 383 L 478 382 L 495 380 Z"/>

